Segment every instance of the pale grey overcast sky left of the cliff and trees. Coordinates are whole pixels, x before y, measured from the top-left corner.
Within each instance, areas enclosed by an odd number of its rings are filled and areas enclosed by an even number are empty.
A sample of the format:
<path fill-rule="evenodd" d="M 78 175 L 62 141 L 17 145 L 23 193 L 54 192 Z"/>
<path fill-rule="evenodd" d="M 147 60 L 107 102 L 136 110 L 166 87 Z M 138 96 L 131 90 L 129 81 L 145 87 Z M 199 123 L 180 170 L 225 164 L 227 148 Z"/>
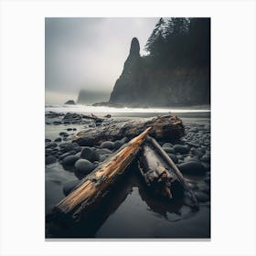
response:
<path fill-rule="evenodd" d="M 80 89 L 112 91 L 133 37 L 144 45 L 156 18 L 46 18 L 46 103 L 77 100 Z"/>

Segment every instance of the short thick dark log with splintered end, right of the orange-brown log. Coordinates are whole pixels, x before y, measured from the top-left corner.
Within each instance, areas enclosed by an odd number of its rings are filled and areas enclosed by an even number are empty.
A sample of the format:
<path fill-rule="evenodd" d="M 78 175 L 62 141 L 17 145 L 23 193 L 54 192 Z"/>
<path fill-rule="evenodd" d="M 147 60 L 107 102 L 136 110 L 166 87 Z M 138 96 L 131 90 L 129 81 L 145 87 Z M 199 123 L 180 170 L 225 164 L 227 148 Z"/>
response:
<path fill-rule="evenodd" d="M 150 140 L 146 140 L 142 146 L 142 154 L 139 157 L 139 170 L 144 177 L 146 185 L 156 195 L 171 199 L 182 194 L 183 186 L 179 182 L 176 173 L 166 163 Z"/>

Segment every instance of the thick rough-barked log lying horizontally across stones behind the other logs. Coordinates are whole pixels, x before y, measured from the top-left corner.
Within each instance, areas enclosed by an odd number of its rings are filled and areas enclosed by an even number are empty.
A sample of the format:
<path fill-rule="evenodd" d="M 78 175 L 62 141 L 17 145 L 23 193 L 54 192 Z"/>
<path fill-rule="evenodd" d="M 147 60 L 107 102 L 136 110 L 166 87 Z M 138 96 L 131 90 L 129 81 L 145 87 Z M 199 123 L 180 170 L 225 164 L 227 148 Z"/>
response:
<path fill-rule="evenodd" d="M 179 138 L 184 135 L 182 121 L 176 115 L 165 115 L 155 118 L 125 121 L 121 123 L 110 123 L 107 126 L 88 128 L 86 131 L 77 133 L 74 142 L 80 145 L 100 144 L 105 140 L 119 140 L 123 137 L 128 139 L 143 133 L 147 127 L 152 127 L 150 134 L 155 139 Z"/>

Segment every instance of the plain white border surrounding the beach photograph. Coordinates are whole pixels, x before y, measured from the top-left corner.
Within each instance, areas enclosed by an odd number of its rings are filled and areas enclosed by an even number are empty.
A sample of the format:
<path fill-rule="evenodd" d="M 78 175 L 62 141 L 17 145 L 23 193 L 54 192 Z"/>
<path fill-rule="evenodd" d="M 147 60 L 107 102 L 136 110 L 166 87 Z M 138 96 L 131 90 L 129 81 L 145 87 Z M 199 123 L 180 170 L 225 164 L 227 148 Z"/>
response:
<path fill-rule="evenodd" d="M 44 239 L 44 17 L 210 16 L 211 240 Z M 255 255 L 255 2 L 2 1 L 1 255 Z"/>

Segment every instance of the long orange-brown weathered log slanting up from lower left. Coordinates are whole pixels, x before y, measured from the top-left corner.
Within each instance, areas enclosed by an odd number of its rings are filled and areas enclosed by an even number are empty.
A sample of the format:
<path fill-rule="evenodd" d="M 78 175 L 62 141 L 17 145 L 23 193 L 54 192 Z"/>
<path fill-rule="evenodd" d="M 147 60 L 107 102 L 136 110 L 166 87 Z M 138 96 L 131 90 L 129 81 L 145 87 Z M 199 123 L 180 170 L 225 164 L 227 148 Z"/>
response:
<path fill-rule="evenodd" d="M 108 157 L 90 175 L 81 180 L 80 184 L 69 196 L 61 200 L 54 210 L 70 214 L 76 219 L 80 217 L 82 211 L 90 210 L 94 204 L 101 201 L 116 177 L 121 175 L 133 161 L 149 131 L 150 127 Z"/>

